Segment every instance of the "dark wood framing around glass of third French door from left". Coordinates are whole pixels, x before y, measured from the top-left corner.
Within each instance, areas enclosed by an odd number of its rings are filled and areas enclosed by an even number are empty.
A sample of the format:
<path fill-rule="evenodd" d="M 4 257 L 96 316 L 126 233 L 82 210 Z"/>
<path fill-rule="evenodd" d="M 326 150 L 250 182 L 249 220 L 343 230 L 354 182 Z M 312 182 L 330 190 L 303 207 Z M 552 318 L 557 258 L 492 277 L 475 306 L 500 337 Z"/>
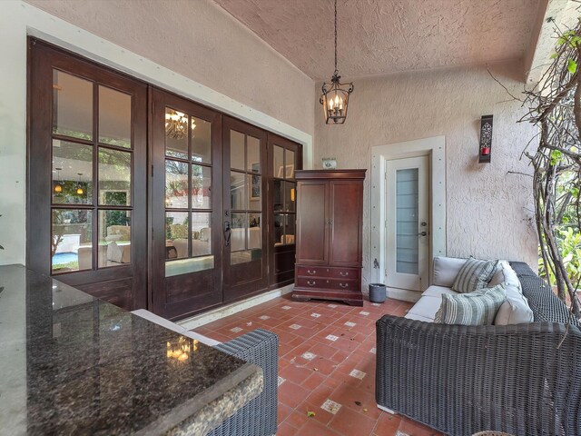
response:
<path fill-rule="evenodd" d="M 248 298 L 251 295 L 265 291 L 268 288 L 269 282 L 269 255 L 271 252 L 271 247 L 268 243 L 268 229 L 270 228 L 271 217 L 268 213 L 268 202 L 267 202 L 267 177 L 265 174 L 268 172 L 268 160 L 267 160 L 267 144 L 268 135 L 265 130 L 260 127 L 244 123 L 241 120 L 232 118 L 231 116 L 223 115 L 222 117 L 222 171 L 223 171 L 223 183 L 222 183 L 222 195 L 223 195 L 223 208 L 222 208 L 222 230 L 223 222 L 231 221 L 231 204 L 230 201 L 226 199 L 230 196 L 231 185 L 230 182 L 226 183 L 226 180 L 230 181 L 231 163 L 230 163 L 230 153 L 226 153 L 226 150 L 230 152 L 230 130 L 235 130 L 242 134 L 248 134 L 255 138 L 258 138 L 261 142 L 261 163 L 263 169 L 261 170 L 261 279 L 260 280 L 249 280 L 247 282 L 241 282 L 240 284 L 231 286 L 229 281 L 231 277 L 227 277 L 228 274 L 236 273 L 235 270 L 240 270 L 241 268 L 234 267 L 230 265 L 230 260 L 227 259 L 230 256 L 230 249 L 228 249 L 222 238 L 223 247 L 223 258 L 222 262 L 222 272 L 223 272 L 223 295 L 224 302 L 235 302 Z M 265 171 L 266 170 L 266 171 Z M 248 210 L 248 209 L 246 209 Z M 228 216 L 225 213 L 229 213 Z M 241 265 L 248 265 L 247 263 L 241 263 Z M 250 270 L 248 271 L 250 273 Z"/>

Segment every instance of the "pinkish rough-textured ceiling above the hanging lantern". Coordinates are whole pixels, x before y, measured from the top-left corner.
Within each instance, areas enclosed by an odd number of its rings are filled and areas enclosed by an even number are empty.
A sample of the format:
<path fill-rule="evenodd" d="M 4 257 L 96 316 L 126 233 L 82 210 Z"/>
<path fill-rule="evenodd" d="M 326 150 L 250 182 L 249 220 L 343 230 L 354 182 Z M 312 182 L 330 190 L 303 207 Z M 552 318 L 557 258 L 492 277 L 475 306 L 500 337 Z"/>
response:
<path fill-rule="evenodd" d="M 333 71 L 332 0 L 214 0 L 316 80 Z M 339 0 L 345 78 L 523 57 L 538 0 Z"/>

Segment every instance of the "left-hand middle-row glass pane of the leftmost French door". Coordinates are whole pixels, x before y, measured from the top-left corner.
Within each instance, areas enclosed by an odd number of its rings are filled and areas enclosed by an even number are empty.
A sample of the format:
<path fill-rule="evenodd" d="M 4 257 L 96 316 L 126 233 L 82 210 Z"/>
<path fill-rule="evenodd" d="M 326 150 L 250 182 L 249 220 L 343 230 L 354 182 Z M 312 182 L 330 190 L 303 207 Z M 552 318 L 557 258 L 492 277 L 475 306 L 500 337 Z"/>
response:
<path fill-rule="evenodd" d="M 53 203 L 93 203 L 93 146 L 53 140 Z"/>

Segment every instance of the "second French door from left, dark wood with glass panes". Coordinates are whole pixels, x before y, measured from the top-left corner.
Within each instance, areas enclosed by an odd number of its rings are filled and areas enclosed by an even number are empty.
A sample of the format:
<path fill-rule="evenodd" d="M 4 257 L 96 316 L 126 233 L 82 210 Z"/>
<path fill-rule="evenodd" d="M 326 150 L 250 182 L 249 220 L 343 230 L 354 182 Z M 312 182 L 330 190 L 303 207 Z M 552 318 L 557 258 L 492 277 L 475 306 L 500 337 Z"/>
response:
<path fill-rule="evenodd" d="M 152 90 L 153 312 L 184 317 L 221 303 L 221 115 Z"/>

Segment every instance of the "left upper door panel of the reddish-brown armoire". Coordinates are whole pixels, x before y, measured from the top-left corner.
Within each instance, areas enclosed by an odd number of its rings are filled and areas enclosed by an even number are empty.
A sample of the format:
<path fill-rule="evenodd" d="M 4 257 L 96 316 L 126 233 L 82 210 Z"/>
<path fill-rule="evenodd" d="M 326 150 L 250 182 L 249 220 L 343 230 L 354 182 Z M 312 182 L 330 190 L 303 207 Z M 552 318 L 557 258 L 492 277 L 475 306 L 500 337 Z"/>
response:
<path fill-rule="evenodd" d="M 300 243 L 297 248 L 297 263 L 311 265 L 327 264 L 329 257 L 328 215 L 329 183 L 299 183 L 299 219 L 297 234 Z"/>

